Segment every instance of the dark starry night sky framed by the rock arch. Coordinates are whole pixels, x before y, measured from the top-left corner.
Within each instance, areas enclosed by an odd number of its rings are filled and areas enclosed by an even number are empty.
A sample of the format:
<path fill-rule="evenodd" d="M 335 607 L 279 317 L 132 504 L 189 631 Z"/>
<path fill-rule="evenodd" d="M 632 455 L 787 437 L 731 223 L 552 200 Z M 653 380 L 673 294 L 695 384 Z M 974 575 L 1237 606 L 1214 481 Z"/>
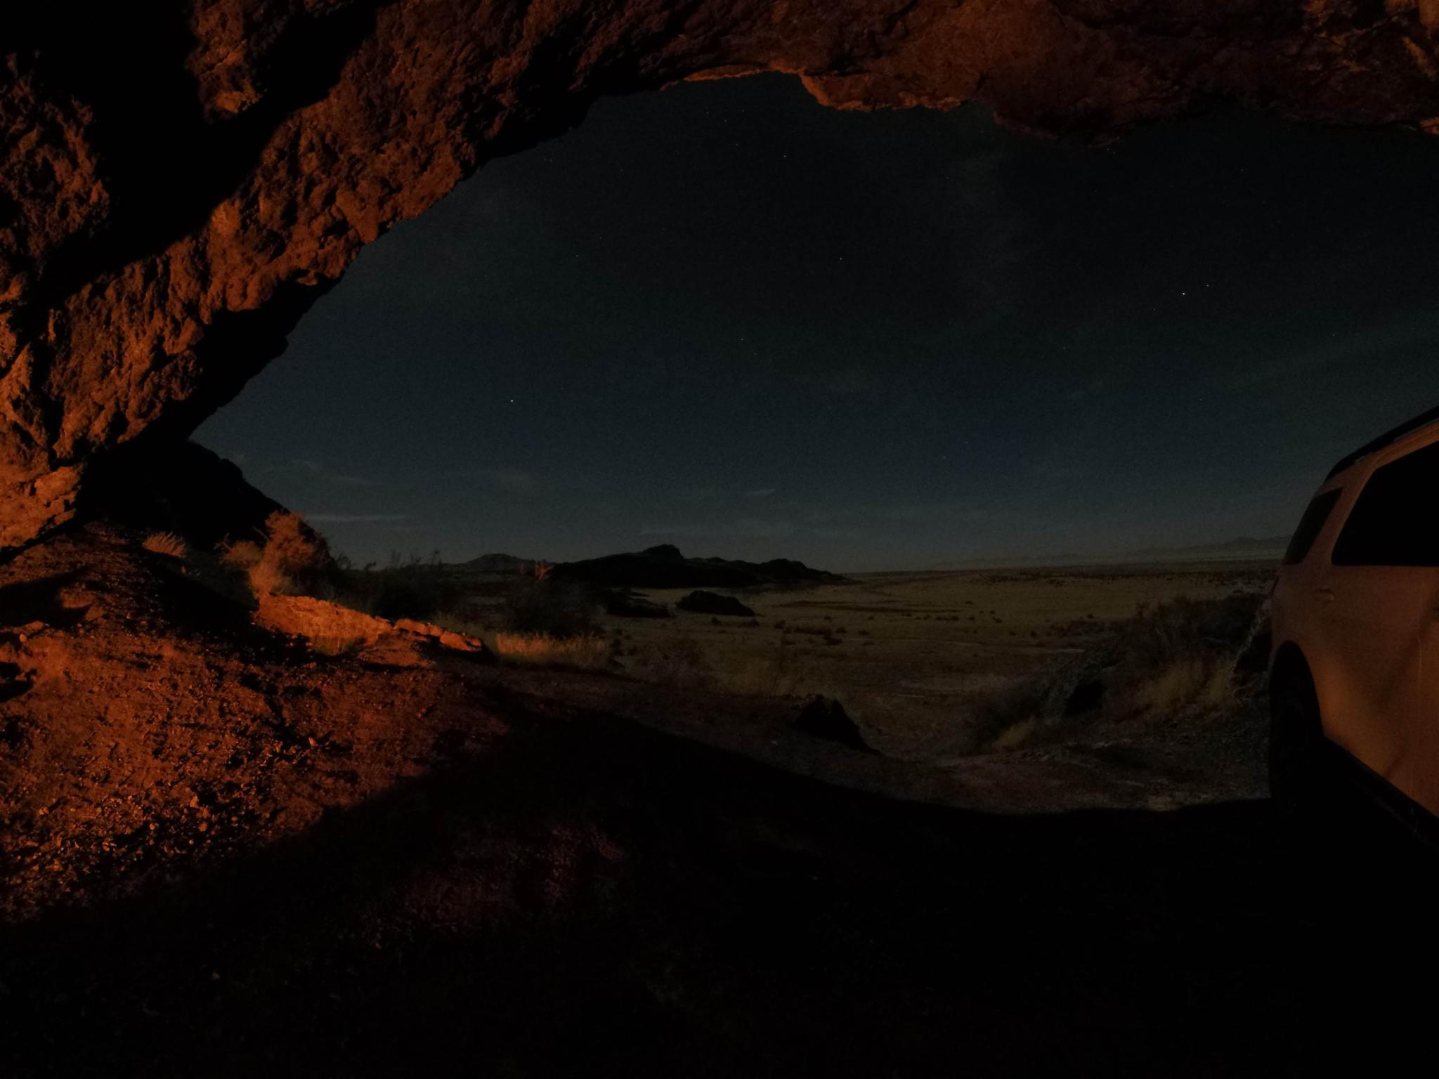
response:
<path fill-rule="evenodd" d="M 599 102 L 364 250 L 197 433 L 357 561 L 832 570 L 1271 537 L 1439 404 L 1439 142 L 1104 148 L 784 76 Z"/>

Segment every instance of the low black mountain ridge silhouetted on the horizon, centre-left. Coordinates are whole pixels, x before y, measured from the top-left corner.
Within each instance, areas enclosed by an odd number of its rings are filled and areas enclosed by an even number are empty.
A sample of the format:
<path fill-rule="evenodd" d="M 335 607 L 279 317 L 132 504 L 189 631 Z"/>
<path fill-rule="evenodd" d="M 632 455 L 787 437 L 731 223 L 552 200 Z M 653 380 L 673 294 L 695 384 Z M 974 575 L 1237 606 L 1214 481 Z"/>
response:
<path fill-rule="evenodd" d="M 845 580 L 839 574 L 812 570 L 790 558 L 771 558 L 767 563 L 686 558 L 672 544 L 560 563 L 554 567 L 554 574 L 609 588 L 753 588 L 764 584 L 833 584 Z"/>

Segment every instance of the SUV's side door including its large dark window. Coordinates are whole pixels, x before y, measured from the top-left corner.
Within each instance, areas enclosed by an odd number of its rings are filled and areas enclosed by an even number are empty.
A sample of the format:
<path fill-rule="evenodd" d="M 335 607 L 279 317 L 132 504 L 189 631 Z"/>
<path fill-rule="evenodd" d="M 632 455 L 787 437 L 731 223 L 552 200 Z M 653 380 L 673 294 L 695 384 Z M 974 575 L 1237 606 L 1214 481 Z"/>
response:
<path fill-rule="evenodd" d="M 1439 443 L 1376 459 L 1315 581 L 1328 683 L 1325 734 L 1413 797 L 1427 729 L 1425 657 L 1435 643 L 1439 534 L 1429 499 Z"/>

